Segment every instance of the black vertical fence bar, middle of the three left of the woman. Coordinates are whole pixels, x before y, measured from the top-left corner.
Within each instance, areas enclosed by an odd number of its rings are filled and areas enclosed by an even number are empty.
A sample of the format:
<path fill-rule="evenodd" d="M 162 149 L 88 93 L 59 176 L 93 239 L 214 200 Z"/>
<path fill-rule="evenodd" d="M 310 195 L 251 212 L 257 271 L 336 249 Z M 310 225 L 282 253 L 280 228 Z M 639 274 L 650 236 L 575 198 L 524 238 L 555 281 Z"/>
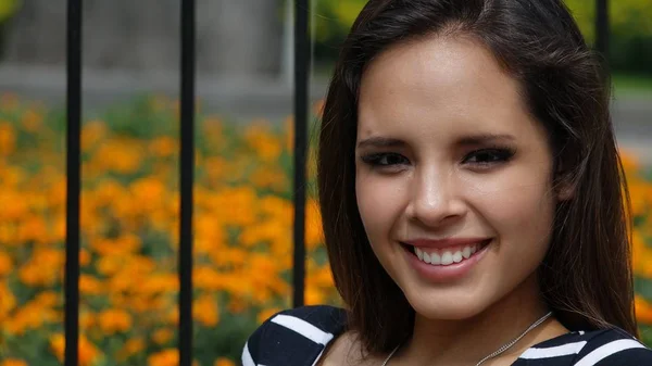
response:
<path fill-rule="evenodd" d="M 181 0 L 179 364 L 192 364 L 192 186 L 195 181 L 195 0 Z"/>

